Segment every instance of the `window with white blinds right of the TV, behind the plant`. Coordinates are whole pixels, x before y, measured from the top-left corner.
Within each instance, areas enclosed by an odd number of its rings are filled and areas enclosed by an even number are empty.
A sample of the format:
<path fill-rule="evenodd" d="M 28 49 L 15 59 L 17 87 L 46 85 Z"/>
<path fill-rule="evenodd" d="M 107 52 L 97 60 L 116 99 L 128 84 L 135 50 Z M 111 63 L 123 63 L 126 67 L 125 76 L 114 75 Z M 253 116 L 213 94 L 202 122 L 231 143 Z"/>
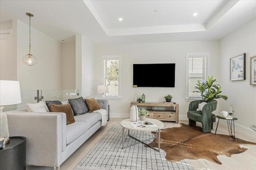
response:
<path fill-rule="evenodd" d="M 208 57 L 210 53 L 187 53 L 186 54 L 186 98 L 201 99 L 197 91 L 198 80 L 204 82 L 208 74 Z"/>

